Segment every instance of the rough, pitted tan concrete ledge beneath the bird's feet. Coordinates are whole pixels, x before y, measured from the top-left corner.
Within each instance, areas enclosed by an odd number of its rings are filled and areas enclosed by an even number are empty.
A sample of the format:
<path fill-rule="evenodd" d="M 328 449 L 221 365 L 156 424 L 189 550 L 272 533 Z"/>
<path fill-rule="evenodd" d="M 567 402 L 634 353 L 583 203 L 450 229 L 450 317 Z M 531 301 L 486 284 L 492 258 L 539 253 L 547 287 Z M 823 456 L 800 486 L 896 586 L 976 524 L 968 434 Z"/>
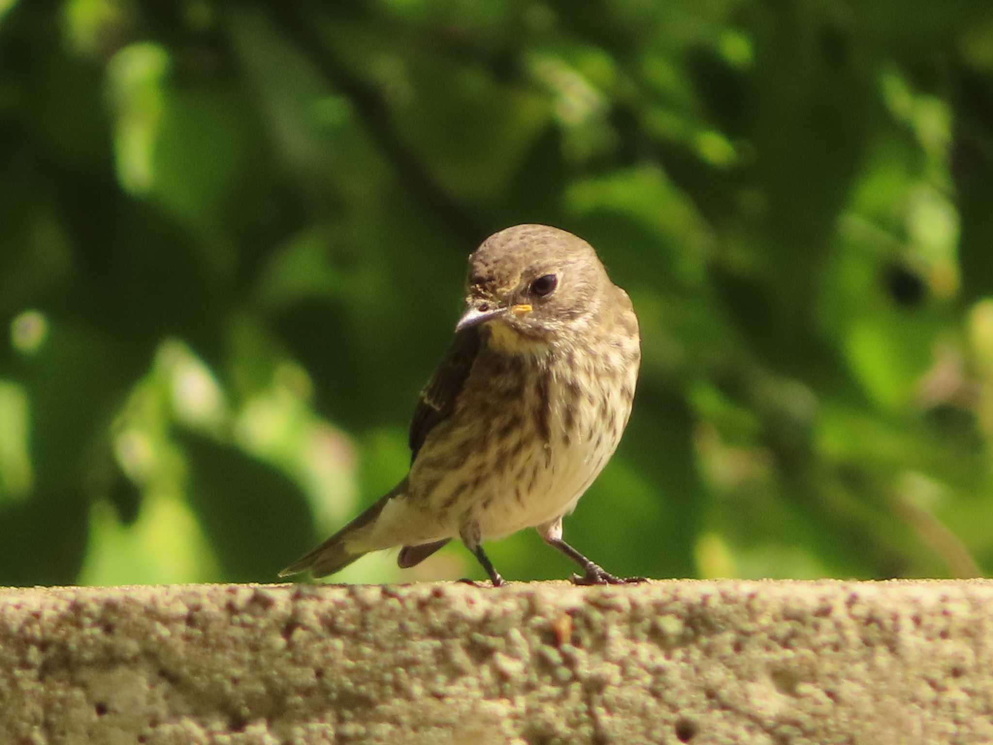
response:
<path fill-rule="evenodd" d="M 989 743 L 993 581 L 0 590 L 3 743 Z"/>

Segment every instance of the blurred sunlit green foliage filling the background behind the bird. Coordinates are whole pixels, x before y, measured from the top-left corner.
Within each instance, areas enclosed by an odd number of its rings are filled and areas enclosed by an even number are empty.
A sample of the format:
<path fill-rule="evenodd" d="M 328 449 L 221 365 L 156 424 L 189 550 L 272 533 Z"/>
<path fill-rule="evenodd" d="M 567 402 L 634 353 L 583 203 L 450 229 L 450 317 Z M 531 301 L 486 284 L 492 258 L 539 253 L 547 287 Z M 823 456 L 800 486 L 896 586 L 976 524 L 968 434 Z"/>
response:
<path fill-rule="evenodd" d="M 0 71 L 0 583 L 274 579 L 403 476 L 465 257 L 525 222 L 641 320 L 578 548 L 993 569 L 989 3 L 0 0 Z"/>

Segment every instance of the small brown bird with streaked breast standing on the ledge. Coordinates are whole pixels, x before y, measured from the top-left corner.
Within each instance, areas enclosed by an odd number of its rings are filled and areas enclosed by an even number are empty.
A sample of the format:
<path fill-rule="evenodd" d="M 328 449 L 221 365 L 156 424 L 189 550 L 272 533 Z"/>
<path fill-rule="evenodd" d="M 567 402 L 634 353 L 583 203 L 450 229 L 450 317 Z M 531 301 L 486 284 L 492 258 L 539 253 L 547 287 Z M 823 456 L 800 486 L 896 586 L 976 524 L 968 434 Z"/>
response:
<path fill-rule="evenodd" d="M 466 309 L 410 425 L 410 472 L 280 576 L 332 574 L 400 549 L 414 566 L 460 537 L 494 585 L 483 541 L 536 526 L 583 568 L 625 581 L 562 539 L 562 517 L 613 455 L 631 414 L 638 318 L 582 238 L 547 225 L 500 230 L 469 257 Z"/>

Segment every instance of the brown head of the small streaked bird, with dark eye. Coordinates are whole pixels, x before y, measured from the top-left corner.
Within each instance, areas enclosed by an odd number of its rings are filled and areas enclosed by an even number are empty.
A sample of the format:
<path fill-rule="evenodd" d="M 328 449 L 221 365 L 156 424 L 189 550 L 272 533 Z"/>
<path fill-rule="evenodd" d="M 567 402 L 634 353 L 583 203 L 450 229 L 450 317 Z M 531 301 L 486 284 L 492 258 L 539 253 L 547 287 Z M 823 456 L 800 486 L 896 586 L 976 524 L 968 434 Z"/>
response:
<path fill-rule="evenodd" d="M 507 353 L 568 344 L 601 312 L 613 287 L 593 247 L 548 225 L 507 227 L 469 257 L 466 309 L 456 332 L 486 325 Z"/>

